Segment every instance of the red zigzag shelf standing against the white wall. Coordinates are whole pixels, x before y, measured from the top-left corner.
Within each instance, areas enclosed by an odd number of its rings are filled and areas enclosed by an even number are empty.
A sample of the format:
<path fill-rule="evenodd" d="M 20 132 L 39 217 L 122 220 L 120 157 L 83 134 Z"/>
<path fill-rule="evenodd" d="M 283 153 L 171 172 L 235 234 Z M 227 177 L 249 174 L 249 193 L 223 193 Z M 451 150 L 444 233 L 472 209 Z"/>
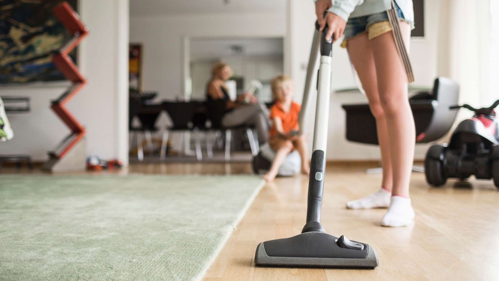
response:
<path fill-rule="evenodd" d="M 52 110 L 71 129 L 54 151 L 49 152 L 50 157 L 62 158 L 85 135 L 85 128 L 67 110 L 65 104 L 86 84 L 85 78 L 74 64 L 68 53 L 73 50 L 87 35 L 88 29 L 80 21 L 78 14 L 67 2 L 53 8 L 55 16 L 72 35 L 71 40 L 53 55 L 53 62 L 72 85 L 56 100 L 52 100 Z"/>

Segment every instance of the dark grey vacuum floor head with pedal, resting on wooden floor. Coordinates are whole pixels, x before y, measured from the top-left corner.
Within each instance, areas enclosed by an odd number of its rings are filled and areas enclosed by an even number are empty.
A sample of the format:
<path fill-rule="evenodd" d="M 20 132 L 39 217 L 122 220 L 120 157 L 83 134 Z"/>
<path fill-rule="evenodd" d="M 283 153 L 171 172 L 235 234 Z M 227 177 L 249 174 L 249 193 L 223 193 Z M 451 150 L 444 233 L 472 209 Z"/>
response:
<path fill-rule="evenodd" d="M 368 244 L 324 232 L 304 232 L 284 239 L 261 242 L 254 262 L 259 266 L 370 268 L 379 265 Z"/>

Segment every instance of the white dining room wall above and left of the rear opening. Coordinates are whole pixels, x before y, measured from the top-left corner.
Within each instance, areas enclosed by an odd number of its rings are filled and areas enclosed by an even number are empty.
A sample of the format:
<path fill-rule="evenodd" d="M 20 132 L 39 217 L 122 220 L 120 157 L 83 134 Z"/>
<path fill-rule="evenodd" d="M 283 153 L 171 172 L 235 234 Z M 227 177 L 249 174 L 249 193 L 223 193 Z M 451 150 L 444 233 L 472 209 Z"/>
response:
<path fill-rule="evenodd" d="M 282 13 L 132 16 L 130 41 L 143 47 L 144 90 L 158 99 L 183 95 L 184 40 L 199 37 L 283 37 Z"/>

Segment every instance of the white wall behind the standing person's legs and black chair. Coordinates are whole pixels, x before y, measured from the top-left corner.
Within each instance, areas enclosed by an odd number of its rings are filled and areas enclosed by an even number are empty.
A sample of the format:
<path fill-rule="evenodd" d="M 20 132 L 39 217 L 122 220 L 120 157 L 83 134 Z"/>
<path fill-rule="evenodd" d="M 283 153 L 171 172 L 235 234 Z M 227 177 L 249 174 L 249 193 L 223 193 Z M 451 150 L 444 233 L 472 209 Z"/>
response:
<path fill-rule="evenodd" d="M 411 40 L 410 56 L 416 81 L 415 85 L 433 85 L 437 76 L 438 28 L 440 0 L 425 1 L 425 37 Z M 435 8 L 438 7 L 438 8 Z M 305 82 L 306 66 L 314 32 L 315 10 L 311 1 L 288 0 L 288 45 L 290 51 L 286 56 L 289 61 L 289 74 L 296 85 L 295 99 L 301 100 Z M 374 145 L 356 144 L 345 138 L 345 112 L 341 108 L 344 103 L 362 103 L 367 99 L 357 93 L 334 93 L 335 89 L 353 87 L 355 85 L 348 53 L 341 48 L 338 40 L 333 47 L 332 89 L 329 114 L 328 148 L 326 157 L 329 160 L 380 159 L 379 148 Z M 315 105 L 315 100 L 312 101 Z M 308 120 L 308 139 L 312 142 L 313 117 L 310 110 Z M 311 145 L 310 145 L 311 146 Z M 415 158 L 422 159 L 427 145 L 416 145 Z"/>

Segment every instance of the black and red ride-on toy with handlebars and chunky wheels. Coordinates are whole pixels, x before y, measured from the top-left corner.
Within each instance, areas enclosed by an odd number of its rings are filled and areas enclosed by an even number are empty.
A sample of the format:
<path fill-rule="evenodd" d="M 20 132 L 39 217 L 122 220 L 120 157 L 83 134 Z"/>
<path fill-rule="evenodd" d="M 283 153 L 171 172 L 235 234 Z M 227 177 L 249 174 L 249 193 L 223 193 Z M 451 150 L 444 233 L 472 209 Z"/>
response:
<path fill-rule="evenodd" d="M 451 106 L 475 112 L 471 119 L 462 121 L 453 132 L 449 144 L 435 144 L 425 158 L 426 181 L 433 186 L 445 184 L 447 178 L 494 179 L 499 188 L 499 123 L 494 108 L 474 108 L 468 104 Z"/>

